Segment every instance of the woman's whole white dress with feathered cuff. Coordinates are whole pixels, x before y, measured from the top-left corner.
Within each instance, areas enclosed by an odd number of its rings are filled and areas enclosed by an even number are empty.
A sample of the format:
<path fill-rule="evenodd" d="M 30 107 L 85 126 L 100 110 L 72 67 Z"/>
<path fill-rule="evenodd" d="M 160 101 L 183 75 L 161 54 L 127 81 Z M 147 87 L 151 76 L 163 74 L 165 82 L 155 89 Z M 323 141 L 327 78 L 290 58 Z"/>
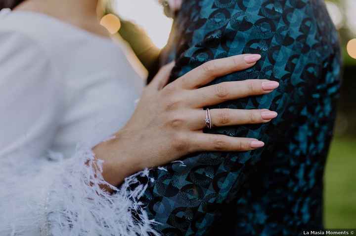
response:
<path fill-rule="evenodd" d="M 100 166 L 86 165 L 92 146 L 128 121 L 143 85 L 112 40 L 44 14 L 0 12 L 1 236 L 151 231 L 138 202 L 145 186 L 128 190 L 132 176 L 109 195 Z"/>

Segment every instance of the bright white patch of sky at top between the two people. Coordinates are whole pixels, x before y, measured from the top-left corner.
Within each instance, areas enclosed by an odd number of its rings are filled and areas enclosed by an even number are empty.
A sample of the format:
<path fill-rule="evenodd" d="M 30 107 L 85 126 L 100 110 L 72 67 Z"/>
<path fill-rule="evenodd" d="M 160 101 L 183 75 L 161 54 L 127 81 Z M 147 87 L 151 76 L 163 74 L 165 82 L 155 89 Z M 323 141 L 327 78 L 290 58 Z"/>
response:
<path fill-rule="evenodd" d="M 157 47 L 166 45 L 173 20 L 161 13 L 163 8 L 157 0 L 116 0 L 114 3 L 118 14 L 141 26 Z"/>

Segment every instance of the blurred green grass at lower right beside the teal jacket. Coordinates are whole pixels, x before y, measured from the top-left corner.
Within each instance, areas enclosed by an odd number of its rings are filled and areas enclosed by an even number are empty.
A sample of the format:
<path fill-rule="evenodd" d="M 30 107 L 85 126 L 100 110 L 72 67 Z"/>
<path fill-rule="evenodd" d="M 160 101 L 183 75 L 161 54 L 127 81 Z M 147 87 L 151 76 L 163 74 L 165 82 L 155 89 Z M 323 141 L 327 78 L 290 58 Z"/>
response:
<path fill-rule="evenodd" d="M 325 227 L 356 228 L 356 138 L 336 138 L 325 172 Z"/>

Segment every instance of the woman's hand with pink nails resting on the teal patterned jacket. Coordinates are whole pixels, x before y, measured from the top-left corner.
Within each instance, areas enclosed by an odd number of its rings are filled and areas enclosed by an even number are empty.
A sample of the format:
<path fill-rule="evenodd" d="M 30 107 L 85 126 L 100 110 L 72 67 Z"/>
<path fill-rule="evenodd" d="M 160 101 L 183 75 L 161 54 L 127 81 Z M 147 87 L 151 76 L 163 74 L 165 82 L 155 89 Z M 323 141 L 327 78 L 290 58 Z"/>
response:
<path fill-rule="evenodd" d="M 264 146 L 254 138 L 203 133 L 205 106 L 267 94 L 279 86 L 275 81 L 254 79 L 202 87 L 216 77 L 252 67 L 260 58 L 238 55 L 210 61 L 167 86 L 174 64 L 163 67 L 143 91 L 134 115 L 116 138 L 95 147 L 98 158 L 106 162 L 106 180 L 117 184 L 119 173 L 127 176 L 193 152 L 248 151 Z M 210 114 L 213 126 L 266 123 L 277 116 L 267 109 L 211 109 Z"/>

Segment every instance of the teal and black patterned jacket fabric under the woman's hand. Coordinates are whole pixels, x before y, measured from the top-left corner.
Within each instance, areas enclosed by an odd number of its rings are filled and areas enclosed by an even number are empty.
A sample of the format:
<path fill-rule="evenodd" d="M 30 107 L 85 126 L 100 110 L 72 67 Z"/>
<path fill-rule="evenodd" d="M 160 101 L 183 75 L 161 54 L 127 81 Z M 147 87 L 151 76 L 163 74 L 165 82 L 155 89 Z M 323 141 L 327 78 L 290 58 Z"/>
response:
<path fill-rule="evenodd" d="M 278 81 L 274 92 L 209 107 L 278 112 L 262 125 L 211 133 L 266 143 L 205 152 L 154 169 L 144 200 L 165 236 L 293 236 L 323 228 L 323 172 L 340 87 L 340 48 L 323 0 L 185 0 L 165 49 L 171 81 L 213 59 L 258 53 L 253 68 L 212 84 Z"/>

